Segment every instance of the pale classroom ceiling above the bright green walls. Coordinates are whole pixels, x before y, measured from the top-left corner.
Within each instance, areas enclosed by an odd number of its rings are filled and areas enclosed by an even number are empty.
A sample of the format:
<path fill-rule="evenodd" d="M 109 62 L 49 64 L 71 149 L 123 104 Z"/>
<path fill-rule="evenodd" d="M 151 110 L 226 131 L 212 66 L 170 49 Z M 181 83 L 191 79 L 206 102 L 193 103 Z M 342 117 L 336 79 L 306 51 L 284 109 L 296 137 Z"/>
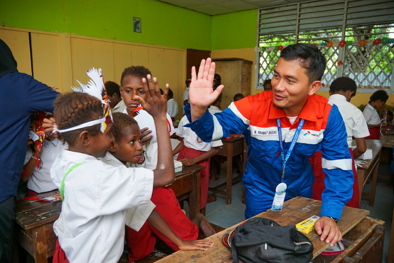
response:
<path fill-rule="evenodd" d="M 256 9 L 260 7 L 280 6 L 304 0 L 161 0 L 175 6 L 185 7 L 208 15 L 220 15 Z"/>

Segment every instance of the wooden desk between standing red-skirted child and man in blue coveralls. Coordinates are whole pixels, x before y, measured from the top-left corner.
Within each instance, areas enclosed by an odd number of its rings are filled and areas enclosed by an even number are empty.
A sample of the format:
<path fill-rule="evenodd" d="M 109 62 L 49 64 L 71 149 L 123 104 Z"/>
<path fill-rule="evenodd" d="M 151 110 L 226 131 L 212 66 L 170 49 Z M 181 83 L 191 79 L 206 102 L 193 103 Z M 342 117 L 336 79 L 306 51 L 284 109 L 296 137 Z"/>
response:
<path fill-rule="evenodd" d="M 219 152 L 216 155 L 227 157 L 227 180 L 216 187 L 209 187 L 208 190 L 217 194 L 223 194 L 226 196 L 226 204 L 231 204 L 231 187 L 233 183 L 238 182 L 242 179 L 243 172 L 245 172 L 245 166 L 247 161 L 247 145 L 245 138 L 233 137 L 232 139 L 222 139 L 223 146 L 219 146 Z M 241 175 L 232 178 L 232 157 L 238 154 L 243 154 L 243 169 Z M 226 191 L 220 190 L 226 186 Z"/>

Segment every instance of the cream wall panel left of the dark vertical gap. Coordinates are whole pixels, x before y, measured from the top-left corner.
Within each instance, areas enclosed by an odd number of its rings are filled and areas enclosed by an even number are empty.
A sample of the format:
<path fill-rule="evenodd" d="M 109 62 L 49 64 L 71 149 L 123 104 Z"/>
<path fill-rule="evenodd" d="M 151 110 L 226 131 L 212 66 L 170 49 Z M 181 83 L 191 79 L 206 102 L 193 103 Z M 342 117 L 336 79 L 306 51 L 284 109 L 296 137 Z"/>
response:
<path fill-rule="evenodd" d="M 0 39 L 2 39 L 11 49 L 11 52 L 18 63 L 18 71 L 32 75 L 29 32 L 0 29 Z"/>

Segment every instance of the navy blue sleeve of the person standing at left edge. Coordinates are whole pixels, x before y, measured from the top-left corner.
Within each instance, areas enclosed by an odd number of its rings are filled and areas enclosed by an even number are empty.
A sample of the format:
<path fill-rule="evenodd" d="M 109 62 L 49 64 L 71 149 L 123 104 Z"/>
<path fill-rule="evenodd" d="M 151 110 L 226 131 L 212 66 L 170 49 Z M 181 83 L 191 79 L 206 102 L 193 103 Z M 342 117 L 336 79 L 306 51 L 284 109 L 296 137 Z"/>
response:
<path fill-rule="evenodd" d="M 54 101 L 60 93 L 53 91 L 48 85 L 23 74 L 26 78 L 26 106 L 30 112 L 47 111 L 53 113 Z"/>

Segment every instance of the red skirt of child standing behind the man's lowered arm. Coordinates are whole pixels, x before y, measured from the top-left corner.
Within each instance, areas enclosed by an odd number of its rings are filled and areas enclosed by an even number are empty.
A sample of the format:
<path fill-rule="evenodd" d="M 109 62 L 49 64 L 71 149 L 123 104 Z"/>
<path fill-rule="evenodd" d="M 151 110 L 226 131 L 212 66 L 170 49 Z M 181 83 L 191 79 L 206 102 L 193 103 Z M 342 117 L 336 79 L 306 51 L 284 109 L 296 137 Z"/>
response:
<path fill-rule="evenodd" d="M 353 150 L 349 148 L 349 152 L 351 155 L 351 164 L 353 167 L 353 176 L 354 176 L 354 183 L 353 183 L 353 195 L 351 196 L 348 204 L 346 206 L 360 208 L 360 195 L 359 195 L 359 183 L 357 180 L 357 172 L 356 167 L 354 166 L 354 157 L 353 157 Z M 315 182 L 313 183 L 313 192 L 312 198 L 315 200 L 322 200 L 322 193 L 325 189 L 324 185 L 324 178 L 325 173 L 322 169 L 322 152 L 318 151 L 312 154 L 309 157 L 309 162 L 312 165 L 312 171 L 315 175 Z"/>

